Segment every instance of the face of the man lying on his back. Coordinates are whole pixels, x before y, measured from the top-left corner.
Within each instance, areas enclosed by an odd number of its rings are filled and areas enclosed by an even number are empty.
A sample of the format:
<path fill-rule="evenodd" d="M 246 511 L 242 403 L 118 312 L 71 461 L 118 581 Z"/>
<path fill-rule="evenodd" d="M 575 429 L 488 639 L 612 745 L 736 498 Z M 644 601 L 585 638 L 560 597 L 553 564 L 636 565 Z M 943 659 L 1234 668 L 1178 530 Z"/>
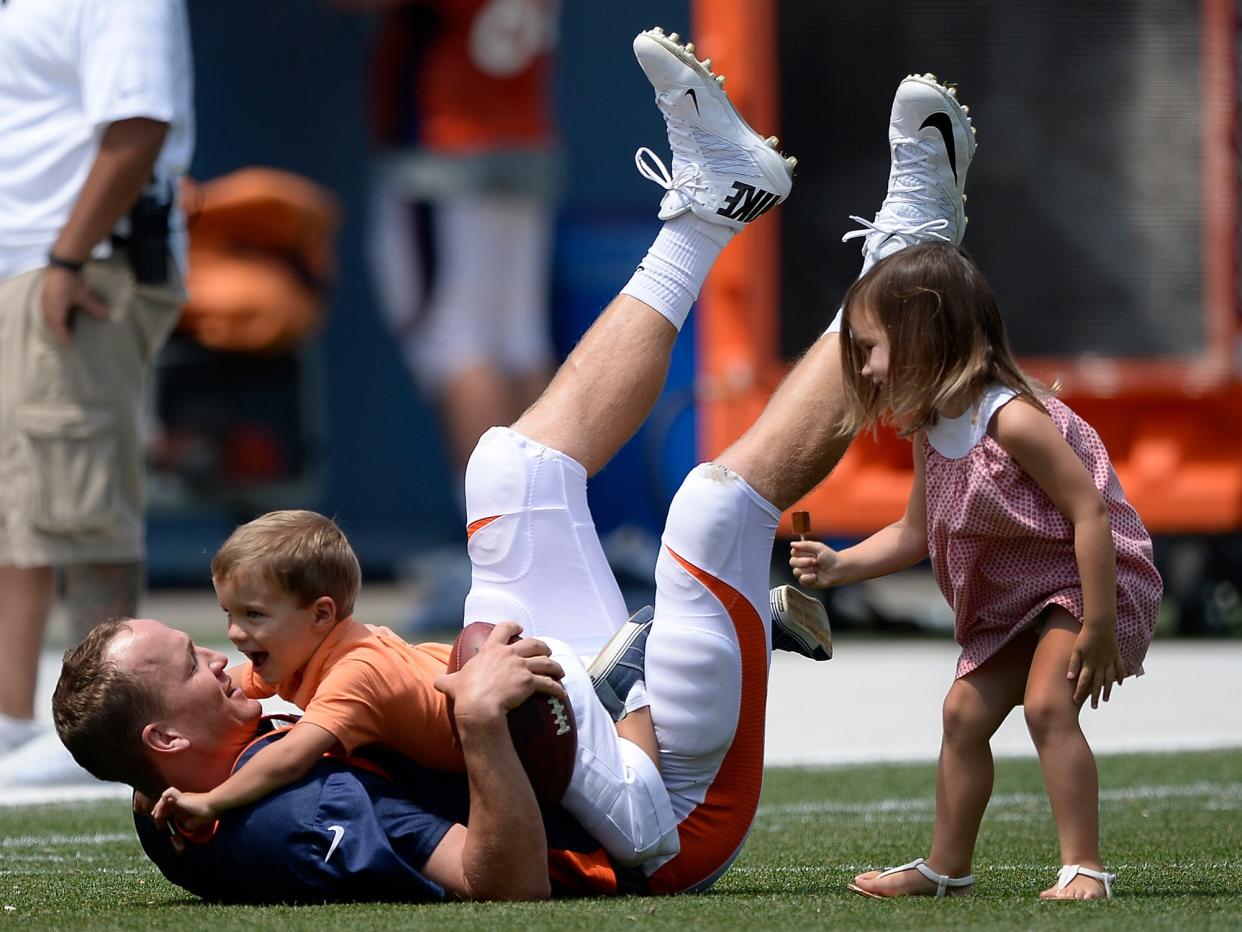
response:
<path fill-rule="evenodd" d="M 197 646 L 184 631 L 160 621 L 127 623 L 108 647 L 108 659 L 142 677 L 164 703 L 160 726 L 189 739 L 199 752 L 233 753 L 248 739 L 262 716 L 258 700 L 233 688 L 226 657 Z"/>

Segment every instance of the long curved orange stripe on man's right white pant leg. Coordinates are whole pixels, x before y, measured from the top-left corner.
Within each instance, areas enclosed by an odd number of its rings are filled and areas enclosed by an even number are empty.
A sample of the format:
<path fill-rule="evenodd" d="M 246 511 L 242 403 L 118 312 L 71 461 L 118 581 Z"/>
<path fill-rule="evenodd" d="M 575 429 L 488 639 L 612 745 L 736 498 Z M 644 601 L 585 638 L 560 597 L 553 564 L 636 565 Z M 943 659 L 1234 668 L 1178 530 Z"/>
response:
<path fill-rule="evenodd" d="M 712 879 L 746 839 L 764 779 L 764 716 L 768 707 L 768 637 L 764 621 L 737 589 L 668 553 L 697 579 L 733 621 L 741 652 L 741 703 L 733 743 L 704 800 L 678 826 L 682 850 L 651 875 L 653 893 L 679 893 Z"/>

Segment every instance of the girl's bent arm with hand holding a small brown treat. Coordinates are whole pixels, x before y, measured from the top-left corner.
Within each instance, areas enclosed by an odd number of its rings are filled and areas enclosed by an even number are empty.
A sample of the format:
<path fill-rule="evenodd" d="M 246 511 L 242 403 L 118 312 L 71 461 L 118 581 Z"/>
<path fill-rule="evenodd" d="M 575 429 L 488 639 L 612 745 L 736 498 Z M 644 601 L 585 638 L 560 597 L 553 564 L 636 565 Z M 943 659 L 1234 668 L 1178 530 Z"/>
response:
<path fill-rule="evenodd" d="M 832 551 L 815 541 L 791 543 L 790 565 L 804 585 L 811 584 L 806 578 L 809 569 L 815 572 L 814 585 L 846 585 L 913 567 L 928 555 L 924 442 L 922 436 L 914 441 L 914 485 L 899 521 L 843 551 Z"/>

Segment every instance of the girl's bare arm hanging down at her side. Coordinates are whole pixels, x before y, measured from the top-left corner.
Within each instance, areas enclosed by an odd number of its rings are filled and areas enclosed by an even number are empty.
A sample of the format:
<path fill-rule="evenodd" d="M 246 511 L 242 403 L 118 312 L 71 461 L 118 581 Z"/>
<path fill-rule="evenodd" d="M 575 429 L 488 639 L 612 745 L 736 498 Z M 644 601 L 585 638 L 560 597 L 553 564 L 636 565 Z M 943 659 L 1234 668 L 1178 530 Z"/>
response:
<path fill-rule="evenodd" d="M 1074 558 L 1083 588 L 1083 630 L 1067 676 L 1074 701 L 1108 702 L 1113 683 L 1125 677 L 1117 647 L 1117 551 L 1108 506 L 1090 473 L 1057 425 L 1030 401 L 1015 399 L 995 419 L 996 442 L 1045 491 L 1074 528 Z"/>

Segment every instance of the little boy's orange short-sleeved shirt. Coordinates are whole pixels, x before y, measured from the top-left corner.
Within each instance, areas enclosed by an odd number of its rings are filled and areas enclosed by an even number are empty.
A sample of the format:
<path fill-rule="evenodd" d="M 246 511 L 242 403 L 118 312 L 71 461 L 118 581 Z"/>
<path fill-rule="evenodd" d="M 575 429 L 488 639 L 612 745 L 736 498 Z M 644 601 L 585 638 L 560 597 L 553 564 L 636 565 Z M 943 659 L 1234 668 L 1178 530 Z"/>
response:
<path fill-rule="evenodd" d="M 445 672 L 447 644 L 406 644 L 388 628 L 343 619 L 323 639 L 301 674 L 272 685 L 243 662 L 229 669 L 251 698 L 279 696 L 302 710 L 351 754 L 385 744 L 415 763 L 463 772 L 461 746 L 448 724 L 448 701 L 435 687 Z"/>

